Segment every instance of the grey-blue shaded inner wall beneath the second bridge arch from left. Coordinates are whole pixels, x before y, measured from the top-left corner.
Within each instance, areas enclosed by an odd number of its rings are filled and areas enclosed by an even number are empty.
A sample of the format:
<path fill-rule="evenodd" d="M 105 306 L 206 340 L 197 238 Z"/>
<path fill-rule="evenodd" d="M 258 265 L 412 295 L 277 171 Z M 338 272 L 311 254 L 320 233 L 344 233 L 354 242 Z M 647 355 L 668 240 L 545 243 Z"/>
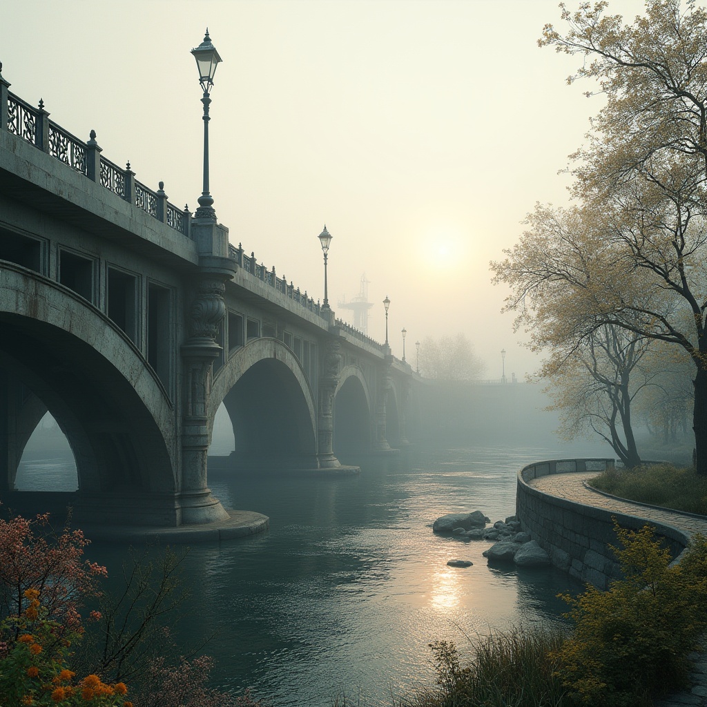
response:
<path fill-rule="evenodd" d="M 238 468 L 314 469 L 315 433 L 300 382 L 276 358 L 263 358 L 223 399 L 233 425 Z"/>

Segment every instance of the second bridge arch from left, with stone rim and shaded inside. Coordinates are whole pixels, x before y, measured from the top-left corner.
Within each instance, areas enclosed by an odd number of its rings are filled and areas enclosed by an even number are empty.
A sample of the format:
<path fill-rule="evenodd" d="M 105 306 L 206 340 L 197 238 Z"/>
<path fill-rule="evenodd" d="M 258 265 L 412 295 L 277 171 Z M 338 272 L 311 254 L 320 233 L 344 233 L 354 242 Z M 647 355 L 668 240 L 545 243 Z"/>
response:
<path fill-rule="evenodd" d="M 239 349 L 214 376 L 209 396 L 209 441 L 223 402 L 235 438 L 236 462 L 315 465 L 314 392 L 293 352 L 270 337 Z"/>

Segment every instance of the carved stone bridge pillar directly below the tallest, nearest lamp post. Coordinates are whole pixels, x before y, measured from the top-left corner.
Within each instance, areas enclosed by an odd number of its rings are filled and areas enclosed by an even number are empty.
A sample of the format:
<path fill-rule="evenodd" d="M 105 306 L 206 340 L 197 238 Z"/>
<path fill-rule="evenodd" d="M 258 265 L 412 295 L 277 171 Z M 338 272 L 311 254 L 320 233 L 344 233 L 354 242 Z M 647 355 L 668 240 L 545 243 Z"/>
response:
<path fill-rule="evenodd" d="M 203 254 L 194 279 L 194 300 L 189 312 L 189 338 L 182 345 L 182 469 L 179 503 L 182 524 L 226 520 L 228 513 L 206 486 L 211 395 L 211 364 L 221 354 L 216 342 L 218 325 L 226 316 L 226 282 L 235 274 L 228 253 L 228 230 L 215 221 L 194 219 L 194 240 Z M 216 246 L 216 247 L 214 247 Z"/>

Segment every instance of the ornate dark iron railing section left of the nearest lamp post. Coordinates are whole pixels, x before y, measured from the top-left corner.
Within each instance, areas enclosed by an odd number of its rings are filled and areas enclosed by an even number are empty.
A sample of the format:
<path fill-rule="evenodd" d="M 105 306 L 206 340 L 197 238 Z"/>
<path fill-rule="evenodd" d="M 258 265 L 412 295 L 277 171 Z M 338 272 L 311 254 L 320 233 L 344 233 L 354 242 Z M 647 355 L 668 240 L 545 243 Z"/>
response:
<path fill-rule="evenodd" d="M 158 191 L 154 192 L 135 179 L 130 163 L 122 169 L 100 155 L 100 147 L 95 141 L 95 131 L 90 132 L 88 142 L 79 140 L 54 121 L 49 120 L 49 113 L 45 110 L 43 101 L 40 100 L 39 107 L 32 107 L 19 96 L 8 91 L 8 86 L 9 84 L 0 74 L 0 106 L 7 106 L 7 112 L 0 111 L 0 129 L 27 141 L 42 152 L 86 175 L 93 182 L 98 182 L 121 199 L 146 211 L 158 221 L 189 236 L 192 214 L 186 206 L 182 211 L 167 201 L 163 182 L 160 182 Z"/>

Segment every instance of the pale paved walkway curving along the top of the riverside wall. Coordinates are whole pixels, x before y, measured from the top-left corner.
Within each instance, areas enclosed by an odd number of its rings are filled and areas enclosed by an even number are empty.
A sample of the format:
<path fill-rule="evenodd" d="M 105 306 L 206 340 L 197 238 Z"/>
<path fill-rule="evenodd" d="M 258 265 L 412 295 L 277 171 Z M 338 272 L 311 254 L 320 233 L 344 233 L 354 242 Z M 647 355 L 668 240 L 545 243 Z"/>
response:
<path fill-rule="evenodd" d="M 665 508 L 645 506 L 643 503 L 624 501 L 614 496 L 604 496 L 603 493 L 588 489 L 584 482 L 597 476 L 597 472 L 579 472 L 570 474 L 550 474 L 528 482 L 538 491 L 549 493 L 568 501 L 583 503 L 585 506 L 596 506 L 614 510 L 617 513 L 635 515 L 646 520 L 672 525 L 691 536 L 697 532 L 707 535 L 707 517 L 677 513 Z M 693 669 L 690 675 L 691 689 L 686 692 L 672 694 L 655 703 L 655 707 L 707 707 L 707 650 L 702 653 L 693 653 Z"/>

